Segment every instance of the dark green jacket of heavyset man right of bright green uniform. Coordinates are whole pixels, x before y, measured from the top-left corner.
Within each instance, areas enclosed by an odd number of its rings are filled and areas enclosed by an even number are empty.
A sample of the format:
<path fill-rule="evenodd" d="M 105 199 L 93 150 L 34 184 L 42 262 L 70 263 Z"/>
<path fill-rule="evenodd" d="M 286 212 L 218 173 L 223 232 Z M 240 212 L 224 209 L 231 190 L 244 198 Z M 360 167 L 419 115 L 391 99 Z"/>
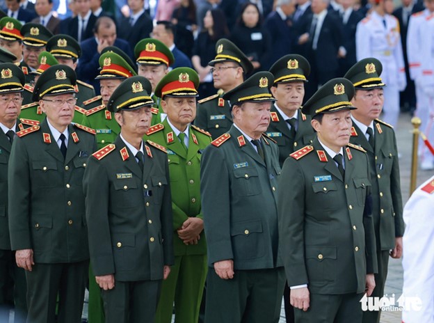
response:
<path fill-rule="evenodd" d="M 264 162 L 236 127 L 228 134 L 220 147 L 205 148 L 200 168 L 208 265 L 232 259 L 236 270 L 280 267 L 278 146 L 262 138 Z"/>

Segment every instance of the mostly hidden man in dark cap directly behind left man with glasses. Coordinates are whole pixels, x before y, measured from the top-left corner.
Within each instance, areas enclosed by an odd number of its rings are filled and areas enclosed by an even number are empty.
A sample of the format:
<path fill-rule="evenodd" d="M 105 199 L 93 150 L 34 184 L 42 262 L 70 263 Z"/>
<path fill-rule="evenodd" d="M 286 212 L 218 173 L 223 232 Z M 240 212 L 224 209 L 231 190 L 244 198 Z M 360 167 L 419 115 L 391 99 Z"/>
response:
<path fill-rule="evenodd" d="M 47 52 L 50 52 L 59 63 L 67 65 L 72 70 L 77 68 L 77 60 L 81 56 L 81 47 L 77 40 L 68 35 L 58 34 L 47 42 Z M 77 106 L 95 97 L 95 88 L 86 82 L 77 79 Z M 80 120 L 81 122 L 81 120 Z"/>

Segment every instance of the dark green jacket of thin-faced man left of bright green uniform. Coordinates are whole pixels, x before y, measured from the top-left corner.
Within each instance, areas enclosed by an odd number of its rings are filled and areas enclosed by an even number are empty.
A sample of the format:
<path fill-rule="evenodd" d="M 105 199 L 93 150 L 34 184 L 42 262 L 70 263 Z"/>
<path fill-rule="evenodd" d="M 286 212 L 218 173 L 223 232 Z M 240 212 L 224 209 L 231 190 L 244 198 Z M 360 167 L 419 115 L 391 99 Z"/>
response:
<path fill-rule="evenodd" d="M 83 187 L 95 276 L 154 281 L 174 262 L 166 153 L 149 142 L 144 150 L 143 171 L 120 136 L 88 161 Z"/>

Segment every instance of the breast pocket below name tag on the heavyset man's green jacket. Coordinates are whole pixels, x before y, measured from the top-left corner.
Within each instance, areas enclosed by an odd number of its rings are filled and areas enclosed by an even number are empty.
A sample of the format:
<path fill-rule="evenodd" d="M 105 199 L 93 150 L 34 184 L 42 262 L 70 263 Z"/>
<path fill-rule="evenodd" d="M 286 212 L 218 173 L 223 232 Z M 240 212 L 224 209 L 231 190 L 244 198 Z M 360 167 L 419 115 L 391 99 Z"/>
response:
<path fill-rule="evenodd" d="M 257 169 L 254 167 L 234 169 L 232 191 L 233 194 L 241 196 L 261 194 L 262 189 Z"/>

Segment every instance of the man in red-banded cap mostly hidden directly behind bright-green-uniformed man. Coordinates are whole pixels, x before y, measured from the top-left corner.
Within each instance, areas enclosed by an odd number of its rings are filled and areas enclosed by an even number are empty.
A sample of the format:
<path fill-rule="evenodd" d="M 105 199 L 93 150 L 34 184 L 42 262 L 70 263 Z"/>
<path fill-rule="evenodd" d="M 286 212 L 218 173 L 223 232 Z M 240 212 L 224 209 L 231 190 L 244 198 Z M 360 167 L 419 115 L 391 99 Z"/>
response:
<path fill-rule="evenodd" d="M 156 103 L 156 108 L 151 110 L 151 125 L 156 125 L 166 118 L 166 113 L 161 108 L 161 97 L 155 95 L 155 88 L 164 75 L 168 73 L 170 65 L 175 62 L 175 58 L 163 42 L 154 38 L 140 40 L 134 47 L 134 56 L 136 56 L 138 65 L 137 74 L 146 77 L 152 85 L 151 97 Z M 161 116 L 162 113 L 164 113 L 163 116 Z"/>

